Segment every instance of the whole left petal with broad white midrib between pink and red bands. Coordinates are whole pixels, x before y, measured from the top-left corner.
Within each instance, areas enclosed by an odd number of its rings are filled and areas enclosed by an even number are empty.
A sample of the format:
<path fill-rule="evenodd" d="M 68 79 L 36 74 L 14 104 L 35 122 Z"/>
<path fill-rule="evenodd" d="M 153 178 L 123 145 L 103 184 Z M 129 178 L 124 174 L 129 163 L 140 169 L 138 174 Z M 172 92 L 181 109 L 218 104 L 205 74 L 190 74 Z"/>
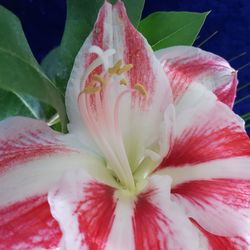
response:
<path fill-rule="evenodd" d="M 61 233 L 50 214 L 48 190 L 66 170 L 87 162 L 92 168 L 91 161 L 101 165 L 70 148 L 65 138 L 33 119 L 9 118 L 0 123 L 1 249 L 57 246 Z"/>

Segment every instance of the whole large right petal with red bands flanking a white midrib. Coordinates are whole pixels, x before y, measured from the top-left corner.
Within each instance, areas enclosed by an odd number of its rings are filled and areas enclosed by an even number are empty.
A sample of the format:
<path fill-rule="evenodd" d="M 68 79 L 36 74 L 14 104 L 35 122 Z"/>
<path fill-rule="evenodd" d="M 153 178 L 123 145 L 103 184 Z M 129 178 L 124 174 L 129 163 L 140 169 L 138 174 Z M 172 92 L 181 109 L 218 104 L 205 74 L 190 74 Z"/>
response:
<path fill-rule="evenodd" d="M 178 117 L 179 116 L 179 117 Z M 250 234 L 250 140 L 242 121 L 200 84 L 177 105 L 174 144 L 160 165 L 172 199 L 209 233 Z"/>

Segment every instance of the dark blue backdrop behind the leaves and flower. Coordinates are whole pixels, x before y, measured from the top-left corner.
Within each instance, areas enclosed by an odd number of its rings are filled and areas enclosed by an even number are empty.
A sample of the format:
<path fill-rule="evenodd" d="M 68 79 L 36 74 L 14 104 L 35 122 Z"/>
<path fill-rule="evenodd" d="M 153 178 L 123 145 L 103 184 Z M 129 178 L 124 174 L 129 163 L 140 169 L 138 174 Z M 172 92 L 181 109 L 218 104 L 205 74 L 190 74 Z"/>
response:
<path fill-rule="evenodd" d="M 94 1 L 94 0 L 93 0 Z M 13 11 L 23 24 L 27 39 L 38 61 L 57 46 L 64 29 L 65 0 L 0 0 L 0 4 Z M 212 10 L 200 38 L 199 45 L 215 31 L 218 33 L 202 48 L 233 60 L 236 69 L 250 62 L 250 2 L 248 0 L 146 0 L 143 17 L 155 11 Z M 166 24 L 167 25 L 167 24 Z M 159 27 L 160 28 L 160 27 Z M 250 82 L 250 66 L 239 72 L 240 87 Z M 238 91 L 237 99 L 250 95 L 250 86 Z M 239 114 L 250 112 L 250 98 L 235 105 Z"/>

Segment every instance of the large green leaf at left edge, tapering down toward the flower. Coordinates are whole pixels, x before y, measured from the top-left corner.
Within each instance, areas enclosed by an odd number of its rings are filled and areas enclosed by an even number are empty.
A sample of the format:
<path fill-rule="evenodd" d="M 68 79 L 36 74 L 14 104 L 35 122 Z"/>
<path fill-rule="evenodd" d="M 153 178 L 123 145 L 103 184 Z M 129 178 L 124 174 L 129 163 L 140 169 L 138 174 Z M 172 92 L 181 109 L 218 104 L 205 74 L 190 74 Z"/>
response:
<path fill-rule="evenodd" d="M 66 121 L 58 89 L 35 60 L 18 18 L 0 6 L 0 88 L 50 104 Z"/>

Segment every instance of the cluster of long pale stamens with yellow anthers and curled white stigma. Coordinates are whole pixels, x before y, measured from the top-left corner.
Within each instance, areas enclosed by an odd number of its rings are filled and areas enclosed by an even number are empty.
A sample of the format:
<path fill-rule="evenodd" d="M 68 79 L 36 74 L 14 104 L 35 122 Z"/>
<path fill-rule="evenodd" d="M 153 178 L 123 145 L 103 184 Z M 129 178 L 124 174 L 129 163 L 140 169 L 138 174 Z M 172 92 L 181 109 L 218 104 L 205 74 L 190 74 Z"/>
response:
<path fill-rule="evenodd" d="M 132 64 L 122 59 L 109 63 L 114 50 L 102 51 L 94 47 L 91 53 L 98 56 L 82 76 L 79 110 L 117 183 L 134 192 L 136 183 L 124 146 L 119 114 L 124 98 L 131 100 L 133 95 L 147 98 L 147 90 L 141 83 L 129 82 L 127 73 L 133 68 Z"/>

